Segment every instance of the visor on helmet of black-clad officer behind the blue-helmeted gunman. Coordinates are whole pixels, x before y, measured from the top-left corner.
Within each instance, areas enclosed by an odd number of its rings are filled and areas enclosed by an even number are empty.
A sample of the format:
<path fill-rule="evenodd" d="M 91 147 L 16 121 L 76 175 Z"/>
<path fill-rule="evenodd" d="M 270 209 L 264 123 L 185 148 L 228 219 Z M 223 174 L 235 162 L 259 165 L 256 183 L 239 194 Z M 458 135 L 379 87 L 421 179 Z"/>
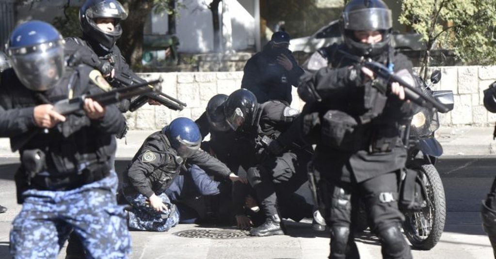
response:
<path fill-rule="evenodd" d="M 125 20 L 127 18 L 127 12 L 120 2 L 116 0 L 105 0 L 88 8 L 86 10 L 86 17 L 88 17 L 88 21 L 91 26 L 97 28 L 102 33 L 110 36 L 120 36 L 122 34 L 121 20 Z M 116 21 L 114 23 L 114 31 L 109 32 L 101 30 L 96 24 L 97 18 L 114 19 Z"/>

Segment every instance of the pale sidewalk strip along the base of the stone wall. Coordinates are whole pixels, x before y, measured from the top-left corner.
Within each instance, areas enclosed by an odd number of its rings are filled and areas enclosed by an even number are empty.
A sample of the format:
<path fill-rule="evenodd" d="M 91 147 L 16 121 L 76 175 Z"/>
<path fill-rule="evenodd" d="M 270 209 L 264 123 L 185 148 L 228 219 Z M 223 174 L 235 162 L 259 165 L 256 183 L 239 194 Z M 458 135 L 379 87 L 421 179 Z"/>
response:
<path fill-rule="evenodd" d="M 493 127 L 440 127 L 436 138 L 441 143 L 443 155 L 495 155 L 496 140 L 493 140 Z M 124 139 L 117 140 L 117 157 L 132 158 L 152 134 L 153 130 L 129 131 Z M 18 157 L 10 151 L 8 139 L 0 138 L 0 157 Z"/>

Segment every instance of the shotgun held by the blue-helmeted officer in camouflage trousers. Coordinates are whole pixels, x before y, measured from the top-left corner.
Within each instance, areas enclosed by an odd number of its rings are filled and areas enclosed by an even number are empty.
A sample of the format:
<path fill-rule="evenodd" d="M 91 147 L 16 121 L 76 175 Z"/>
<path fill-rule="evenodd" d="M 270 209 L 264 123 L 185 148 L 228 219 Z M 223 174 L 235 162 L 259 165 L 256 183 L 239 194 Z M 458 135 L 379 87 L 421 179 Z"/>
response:
<path fill-rule="evenodd" d="M 82 110 L 84 106 L 84 100 L 90 98 L 93 101 L 98 102 L 102 106 L 109 104 L 116 104 L 124 99 L 129 99 L 135 96 L 140 96 L 147 93 L 159 92 L 160 89 L 157 84 L 162 83 L 163 79 L 157 79 L 150 82 L 143 82 L 140 84 L 134 84 L 128 87 L 115 88 L 109 92 L 98 93 L 93 95 L 81 95 L 72 99 L 64 99 L 56 102 L 54 105 L 54 110 L 62 115 L 70 114 L 78 110 Z M 10 149 L 12 152 L 16 152 L 24 145 L 26 145 L 32 138 L 34 138 L 43 129 L 39 128 L 36 130 L 29 131 L 25 134 L 21 134 L 15 138 L 12 138 Z"/>

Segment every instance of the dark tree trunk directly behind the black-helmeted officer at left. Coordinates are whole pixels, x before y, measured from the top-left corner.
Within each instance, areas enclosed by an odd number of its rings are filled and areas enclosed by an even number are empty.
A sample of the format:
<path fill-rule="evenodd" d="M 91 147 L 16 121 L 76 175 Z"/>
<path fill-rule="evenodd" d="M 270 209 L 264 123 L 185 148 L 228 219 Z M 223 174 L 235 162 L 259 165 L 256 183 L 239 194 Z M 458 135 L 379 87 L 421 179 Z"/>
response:
<path fill-rule="evenodd" d="M 124 58 L 133 67 L 141 64 L 143 27 L 153 7 L 153 0 L 121 1 L 128 10 L 127 19 L 122 21 L 123 34 L 118 42 Z"/>

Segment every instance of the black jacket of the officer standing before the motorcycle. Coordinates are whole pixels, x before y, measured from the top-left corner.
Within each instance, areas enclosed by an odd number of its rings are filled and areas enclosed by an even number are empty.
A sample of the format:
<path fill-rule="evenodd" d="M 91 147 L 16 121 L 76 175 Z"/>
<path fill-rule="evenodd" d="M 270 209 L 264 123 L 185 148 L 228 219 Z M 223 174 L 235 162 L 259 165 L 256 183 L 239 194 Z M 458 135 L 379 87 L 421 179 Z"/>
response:
<path fill-rule="evenodd" d="M 333 48 L 348 51 L 344 44 Z M 325 53 L 329 53 L 329 66 L 314 74 L 306 73 L 301 78 L 299 87 L 313 87 L 322 98 L 321 102 L 307 103 L 304 113 L 318 111 L 321 121 L 322 115 L 328 110 L 344 111 L 355 118 L 363 115 L 367 112 L 364 108 L 366 87 L 360 76 L 354 80 L 350 77 L 351 67 L 356 62 L 339 54 L 336 49 L 327 49 Z M 412 63 L 408 58 L 394 52 L 392 48 L 375 61 L 387 64 L 388 60 L 394 64 L 395 72 L 402 69 L 412 71 Z M 347 182 L 352 181 L 352 178 L 362 182 L 404 167 L 406 149 L 401 142 L 400 125 L 408 122 L 412 105 L 394 95 L 386 96 L 387 102 L 381 114 L 357 126 L 363 132 L 360 137 L 356 137 L 364 144 L 362 149 L 348 152 L 330 148 L 323 142 L 316 143 L 314 164 L 320 172 L 330 172 L 328 176 Z M 376 152 L 371 149 L 373 143 L 380 143 L 385 138 L 395 140 L 391 151 Z"/>

